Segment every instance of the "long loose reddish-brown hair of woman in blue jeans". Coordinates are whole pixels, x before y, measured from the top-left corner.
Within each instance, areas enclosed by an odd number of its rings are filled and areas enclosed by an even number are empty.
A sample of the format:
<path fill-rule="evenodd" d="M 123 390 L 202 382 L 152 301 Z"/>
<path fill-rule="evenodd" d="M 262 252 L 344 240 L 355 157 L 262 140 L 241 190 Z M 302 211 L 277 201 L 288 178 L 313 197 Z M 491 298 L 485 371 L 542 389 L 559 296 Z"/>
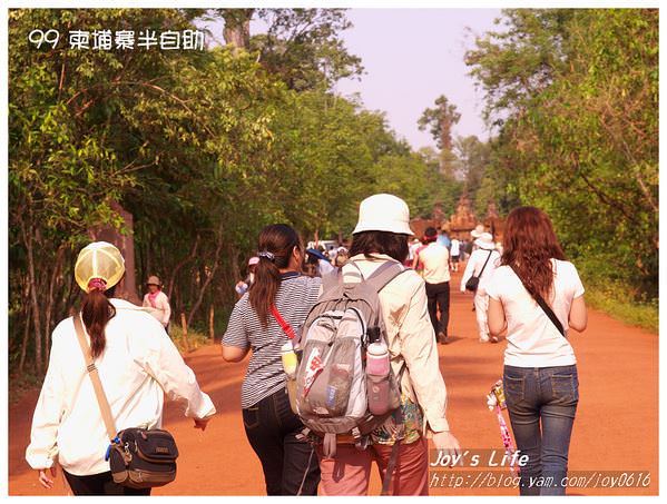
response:
<path fill-rule="evenodd" d="M 536 207 L 514 208 L 507 218 L 501 264 L 513 266 L 531 296 L 551 297 L 551 258 L 565 260 L 549 216 Z"/>

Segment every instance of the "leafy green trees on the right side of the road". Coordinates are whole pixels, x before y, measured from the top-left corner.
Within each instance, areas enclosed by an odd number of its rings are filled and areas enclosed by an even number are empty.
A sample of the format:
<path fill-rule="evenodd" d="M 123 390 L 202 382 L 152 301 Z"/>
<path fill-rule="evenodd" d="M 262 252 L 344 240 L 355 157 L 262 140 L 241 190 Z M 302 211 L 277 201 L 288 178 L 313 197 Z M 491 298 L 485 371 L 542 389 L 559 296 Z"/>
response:
<path fill-rule="evenodd" d="M 467 58 L 501 118 L 493 170 L 585 269 L 657 296 L 657 10 L 504 14 Z"/>

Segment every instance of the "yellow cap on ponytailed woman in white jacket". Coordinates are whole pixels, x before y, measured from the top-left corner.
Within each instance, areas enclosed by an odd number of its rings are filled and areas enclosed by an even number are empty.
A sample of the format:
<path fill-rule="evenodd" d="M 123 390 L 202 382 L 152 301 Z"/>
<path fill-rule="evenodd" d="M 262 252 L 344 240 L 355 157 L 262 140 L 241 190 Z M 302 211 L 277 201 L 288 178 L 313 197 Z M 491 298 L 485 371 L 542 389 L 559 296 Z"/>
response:
<path fill-rule="evenodd" d="M 92 278 L 101 278 L 106 288 L 114 287 L 125 274 L 125 259 L 114 245 L 107 241 L 94 241 L 86 246 L 77 257 L 75 278 L 79 287 L 87 293 Z"/>

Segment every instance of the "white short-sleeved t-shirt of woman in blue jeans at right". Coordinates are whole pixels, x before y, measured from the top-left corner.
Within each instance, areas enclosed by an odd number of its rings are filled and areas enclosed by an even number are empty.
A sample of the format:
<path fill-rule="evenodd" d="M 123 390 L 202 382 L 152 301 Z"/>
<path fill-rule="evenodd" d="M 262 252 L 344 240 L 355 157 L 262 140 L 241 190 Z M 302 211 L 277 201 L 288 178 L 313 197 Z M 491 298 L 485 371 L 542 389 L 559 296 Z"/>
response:
<path fill-rule="evenodd" d="M 572 299 L 583 295 L 583 285 L 572 263 L 551 259 L 553 302 L 549 304 L 568 334 Z M 500 300 L 508 324 L 504 364 L 517 367 L 569 366 L 577 363 L 575 350 L 540 305 L 526 290 L 509 266 L 499 266 L 485 286 L 487 294 Z"/>

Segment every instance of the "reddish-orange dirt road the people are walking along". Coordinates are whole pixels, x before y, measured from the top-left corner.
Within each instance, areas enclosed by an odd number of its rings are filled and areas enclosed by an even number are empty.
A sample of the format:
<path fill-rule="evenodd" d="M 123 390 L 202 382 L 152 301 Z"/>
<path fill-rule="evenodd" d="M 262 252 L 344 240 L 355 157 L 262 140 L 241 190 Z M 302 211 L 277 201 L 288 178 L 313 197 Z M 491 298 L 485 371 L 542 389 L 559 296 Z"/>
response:
<path fill-rule="evenodd" d="M 460 274 L 459 274 L 460 275 Z M 484 395 L 501 376 L 506 343 L 478 343 L 472 297 L 452 283 L 450 308 L 451 343 L 440 345 L 441 369 L 448 387 L 448 418 L 464 449 L 497 448 L 502 443 L 494 415 Z M 573 333 L 573 332 L 572 332 Z M 588 329 L 573 333 L 578 358 L 580 402 L 570 445 L 571 472 L 650 472 L 650 485 L 625 488 L 569 488 L 571 495 L 658 494 L 658 335 L 627 326 L 596 312 L 589 312 Z M 178 477 L 154 491 L 155 495 L 263 495 L 262 467 L 243 429 L 241 383 L 245 364 L 223 362 L 218 346 L 189 354 L 203 389 L 218 409 L 206 432 L 194 429 L 176 405 L 167 406 L 165 426 L 178 443 Z M 56 487 L 46 491 L 37 473 L 23 458 L 30 437 L 30 422 L 38 391 L 28 394 L 9 411 L 9 494 L 62 495 L 61 475 Z M 506 414 L 507 418 L 507 414 Z M 508 421 L 509 424 L 509 421 Z M 460 474 L 464 470 L 439 470 Z M 509 471 L 504 471 L 509 475 Z M 432 480 L 435 483 L 435 480 Z M 518 495 L 514 488 L 489 487 L 431 490 L 431 495 Z M 635 483 L 636 484 L 636 483 Z M 373 473 L 371 495 L 380 493 Z"/>

